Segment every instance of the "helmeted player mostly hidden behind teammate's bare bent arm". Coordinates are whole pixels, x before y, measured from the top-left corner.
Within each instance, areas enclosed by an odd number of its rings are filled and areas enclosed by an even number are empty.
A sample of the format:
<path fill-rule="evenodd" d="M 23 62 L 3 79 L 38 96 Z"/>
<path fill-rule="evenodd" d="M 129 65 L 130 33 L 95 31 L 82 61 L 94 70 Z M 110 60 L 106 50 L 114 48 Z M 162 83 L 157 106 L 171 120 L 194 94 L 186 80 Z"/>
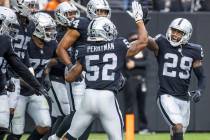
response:
<path fill-rule="evenodd" d="M 75 5 L 71 2 L 62 2 L 60 3 L 55 10 L 55 19 L 57 22 L 57 41 L 60 42 L 63 36 L 65 35 L 69 22 L 73 20 L 73 18 L 79 17 L 79 11 L 75 7 Z M 64 78 L 65 65 L 59 59 L 53 59 L 51 61 L 50 67 L 50 81 L 51 81 L 51 89 L 49 91 L 49 95 L 53 99 L 52 103 L 52 134 L 55 133 L 55 130 L 63 121 L 66 115 L 70 114 L 70 103 Z M 70 92 L 70 97 L 73 97 Z"/>

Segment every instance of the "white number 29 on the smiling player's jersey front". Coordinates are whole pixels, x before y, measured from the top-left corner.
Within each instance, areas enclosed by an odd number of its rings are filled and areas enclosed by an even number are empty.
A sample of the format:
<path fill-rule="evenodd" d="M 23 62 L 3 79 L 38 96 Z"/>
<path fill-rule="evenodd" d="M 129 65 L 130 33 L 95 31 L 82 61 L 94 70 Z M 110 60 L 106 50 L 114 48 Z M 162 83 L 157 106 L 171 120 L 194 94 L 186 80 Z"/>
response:
<path fill-rule="evenodd" d="M 172 62 L 165 62 L 163 66 L 163 75 L 169 76 L 169 77 L 176 77 L 177 71 L 173 70 L 173 68 L 180 67 L 183 71 L 178 72 L 178 76 L 181 79 L 188 79 L 190 77 L 190 68 L 192 66 L 193 59 L 190 57 L 183 56 L 181 57 L 180 64 L 179 57 L 176 54 L 172 53 L 166 53 L 164 55 L 164 58 L 166 60 L 171 59 Z"/>

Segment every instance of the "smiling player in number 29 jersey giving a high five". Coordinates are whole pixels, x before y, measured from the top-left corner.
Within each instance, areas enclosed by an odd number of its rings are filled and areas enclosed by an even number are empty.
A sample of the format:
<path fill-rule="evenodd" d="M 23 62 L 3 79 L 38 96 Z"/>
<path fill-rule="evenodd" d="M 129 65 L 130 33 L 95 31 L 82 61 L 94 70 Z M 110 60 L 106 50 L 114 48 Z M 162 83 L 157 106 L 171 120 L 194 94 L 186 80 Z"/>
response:
<path fill-rule="evenodd" d="M 190 101 L 200 100 L 204 89 L 203 50 L 198 44 L 188 43 L 192 25 L 185 18 L 174 19 L 166 33 L 150 38 L 148 48 L 155 52 L 158 61 L 160 88 L 157 103 L 170 126 L 171 140 L 183 140 L 189 125 Z M 191 71 L 198 79 L 198 87 L 189 92 Z"/>

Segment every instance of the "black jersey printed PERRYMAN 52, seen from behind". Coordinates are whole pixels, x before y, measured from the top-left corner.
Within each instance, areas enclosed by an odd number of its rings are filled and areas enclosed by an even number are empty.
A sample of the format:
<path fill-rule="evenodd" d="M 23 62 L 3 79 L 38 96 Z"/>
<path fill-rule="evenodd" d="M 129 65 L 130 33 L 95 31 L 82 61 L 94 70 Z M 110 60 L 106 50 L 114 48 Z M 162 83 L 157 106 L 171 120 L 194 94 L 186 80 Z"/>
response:
<path fill-rule="evenodd" d="M 87 88 L 118 91 L 127 49 L 124 38 L 78 46 L 76 56 L 86 71 Z"/>

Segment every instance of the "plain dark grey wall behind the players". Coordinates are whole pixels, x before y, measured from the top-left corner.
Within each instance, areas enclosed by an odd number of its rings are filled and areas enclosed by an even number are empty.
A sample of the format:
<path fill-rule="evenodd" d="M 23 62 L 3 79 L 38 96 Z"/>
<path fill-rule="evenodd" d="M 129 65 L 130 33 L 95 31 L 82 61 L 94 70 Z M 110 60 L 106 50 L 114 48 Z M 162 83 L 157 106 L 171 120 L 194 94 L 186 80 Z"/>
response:
<path fill-rule="evenodd" d="M 151 17 L 150 22 L 147 25 L 147 30 L 150 36 L 155 36 L 158 33 L 165 34 L 168 25 L 171 20 L 177 17 L 188 18 L 193 25 L 193 35 L 190 42 L 198 43 L 203 46 L 204 49 L 204 68 L 207 76 L 207 87 L 202 96 L 202 99 L 197 104 L 191 104 L 191 119 L 188 131 L 210 131 L 210 13 L 208 12 L 172 12 L 172 13 L 160 13 L 152 12 L 149 14 Z M 119 35 L 126 37 L 129 32 L 135 30 L 135 23 L 131 17 L 125 13 L 116 11 L 112 13 L 112 21 L 116 24 Z M 152 53 L 149 54 L 149 65 L 147 67 L 147 85 L 148 92 L 146 97 L 146 114 L 148 117 L 148 127 L 151 131 L 163 132 L 168 131 L 168 126 L 160 115 L 159 109 L 156 104 L 156 92 L 158 89 L 158 77 L 157 77 L 157 65 L 155 57 Z M 191 89 L 196 88 L 196 79 L 192 77 Z M 123 93 L 118 95 L 119 104 L 122 112 L 124 112 Z M 111 112 L 110 112 L 111 113 Z M 137 122 L 138 123 L 138 120 Z M 26 132 L 30 132 L 33 128 L 32 120 L 27 117 Z M 94 122 L 92 127 L 93 132 L 103 132 L 103 129 L 98 121 Z"/>

